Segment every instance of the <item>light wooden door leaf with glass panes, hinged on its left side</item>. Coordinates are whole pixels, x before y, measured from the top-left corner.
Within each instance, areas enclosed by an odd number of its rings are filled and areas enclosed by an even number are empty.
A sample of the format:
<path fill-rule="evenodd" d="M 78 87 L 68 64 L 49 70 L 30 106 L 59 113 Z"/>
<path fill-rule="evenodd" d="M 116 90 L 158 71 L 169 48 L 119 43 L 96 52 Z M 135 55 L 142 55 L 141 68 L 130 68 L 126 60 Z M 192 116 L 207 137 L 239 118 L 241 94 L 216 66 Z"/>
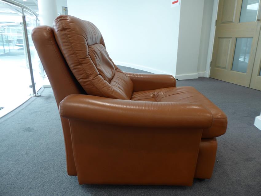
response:
<path fill-rule="evenodd" d="M 211 78 L 249 87 L 261 26 L 256 6 L 257 0 L 219 0 Z"/>

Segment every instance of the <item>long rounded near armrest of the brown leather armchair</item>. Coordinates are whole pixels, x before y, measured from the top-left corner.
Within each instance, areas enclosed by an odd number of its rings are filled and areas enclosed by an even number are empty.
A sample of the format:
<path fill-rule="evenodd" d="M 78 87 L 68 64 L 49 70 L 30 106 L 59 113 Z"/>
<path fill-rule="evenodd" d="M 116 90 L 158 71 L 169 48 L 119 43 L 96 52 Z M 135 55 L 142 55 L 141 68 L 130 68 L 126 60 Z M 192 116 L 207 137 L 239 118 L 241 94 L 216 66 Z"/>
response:
<path fill-rule="evenodd" d="M 60 103 L 64 118 L 101 124 L 207 129 L 213 117 L 200 104 L 143 102 L 72 94 Z"/>

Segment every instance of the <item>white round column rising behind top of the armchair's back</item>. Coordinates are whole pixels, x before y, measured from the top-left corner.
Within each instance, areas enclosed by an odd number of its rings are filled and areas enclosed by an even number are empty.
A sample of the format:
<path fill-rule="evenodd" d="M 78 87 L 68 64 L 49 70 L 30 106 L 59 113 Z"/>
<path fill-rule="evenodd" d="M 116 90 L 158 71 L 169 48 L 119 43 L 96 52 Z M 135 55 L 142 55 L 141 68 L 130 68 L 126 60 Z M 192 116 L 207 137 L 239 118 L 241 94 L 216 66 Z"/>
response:
<path fill-rule="evenodd" d="M 41 25 L 53 26 L 57 17 L 56 0 L 38 0 L 39 20 Z"/>

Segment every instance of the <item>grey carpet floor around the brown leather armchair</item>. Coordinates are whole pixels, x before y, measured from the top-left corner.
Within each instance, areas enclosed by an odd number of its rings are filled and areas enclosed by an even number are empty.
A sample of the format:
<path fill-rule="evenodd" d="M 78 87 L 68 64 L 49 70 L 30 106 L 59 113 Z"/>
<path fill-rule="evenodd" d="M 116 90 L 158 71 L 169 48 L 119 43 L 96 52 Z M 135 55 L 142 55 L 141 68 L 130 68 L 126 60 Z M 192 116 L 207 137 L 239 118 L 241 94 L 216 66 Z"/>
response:
<path fill-rule="evenodd" d="M 253 126 L 261 91 L 212 78 L 177 86 L 194 86 L 227 114 L 210 180 L 195 179 L 191 187 L 79 185 L 66 173 L 59 113 L 45 88 L 0 119 L 0 195 L 261 195 L 261 131 Z"/>

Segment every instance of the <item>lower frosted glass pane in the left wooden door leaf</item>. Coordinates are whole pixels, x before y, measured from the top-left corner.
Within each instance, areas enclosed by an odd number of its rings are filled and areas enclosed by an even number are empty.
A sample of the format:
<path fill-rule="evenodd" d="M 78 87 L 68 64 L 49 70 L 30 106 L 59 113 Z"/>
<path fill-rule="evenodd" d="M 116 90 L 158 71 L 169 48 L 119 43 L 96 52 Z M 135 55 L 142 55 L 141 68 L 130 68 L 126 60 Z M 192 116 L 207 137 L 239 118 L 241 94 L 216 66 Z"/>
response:
<path fill-rule="evenodd" d="M 232 65 L 233 71 L 247 73 L 247 65 L 253 38 L 237 38 Z"/>

